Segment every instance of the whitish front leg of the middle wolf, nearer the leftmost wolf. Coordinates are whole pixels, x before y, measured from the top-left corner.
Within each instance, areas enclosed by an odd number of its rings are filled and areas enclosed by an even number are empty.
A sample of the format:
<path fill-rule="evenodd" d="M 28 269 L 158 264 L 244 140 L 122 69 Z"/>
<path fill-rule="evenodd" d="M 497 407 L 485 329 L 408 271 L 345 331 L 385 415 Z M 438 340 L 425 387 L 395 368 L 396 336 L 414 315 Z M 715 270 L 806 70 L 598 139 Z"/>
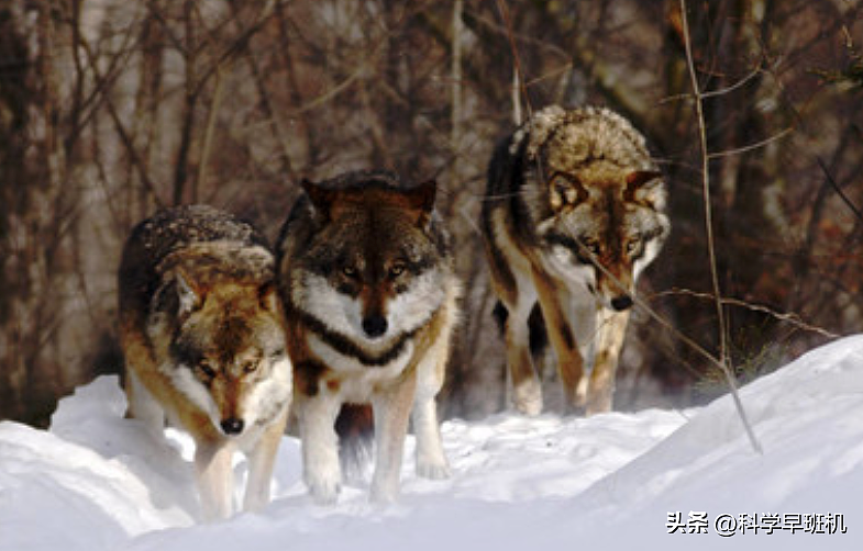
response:
<path fill-rule="evenodd" d="M 335 418 L 341 401 L 336 396 L 319 393 L 313 397 L 300 396 L 297 405 L 302 438 L 303 480 L 316 503 L 335 503 L 342 486 L 339 436 L 335 434 Z"/>

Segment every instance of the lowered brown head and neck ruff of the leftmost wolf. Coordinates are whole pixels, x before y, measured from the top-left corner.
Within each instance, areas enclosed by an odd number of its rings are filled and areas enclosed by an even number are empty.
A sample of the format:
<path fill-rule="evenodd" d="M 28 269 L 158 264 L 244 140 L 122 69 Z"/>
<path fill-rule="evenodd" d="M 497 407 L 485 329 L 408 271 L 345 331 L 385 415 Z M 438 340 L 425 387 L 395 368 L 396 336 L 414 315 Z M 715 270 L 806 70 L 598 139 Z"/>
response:
<path fill-rule="evenodd" d="M 247 277 L 250 269 L 272 272 L 273 261 L 259 248 L 198 248 L 192 247 L 163 262 L 148 333 L 165 344 L 161 369 L 175 387 L 219 432 L 240 437 L 273 421 L 291 392 L 275 283 Z M 261 266 L 244 262 L 250 259 Z"/>

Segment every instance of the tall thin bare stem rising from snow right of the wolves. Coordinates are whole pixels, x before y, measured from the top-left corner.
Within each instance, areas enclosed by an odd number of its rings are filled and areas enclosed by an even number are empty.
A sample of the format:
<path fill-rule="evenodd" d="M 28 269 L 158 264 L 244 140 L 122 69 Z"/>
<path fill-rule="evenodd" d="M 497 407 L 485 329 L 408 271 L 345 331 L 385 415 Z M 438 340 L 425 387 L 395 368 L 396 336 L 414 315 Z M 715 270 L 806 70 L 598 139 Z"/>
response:
<path fill-rule="evenodd" d="M 737 406 L 740 419 L 749 436 L 752 448 L 757 453 L 763 453 L 761 443 L 755 438 L 752 426 L 746 417 L 746 412 L 743 409 L 743 403 L 740 401 L 738 393 L 737 381 L 734 374 L 728 364 L 728 339 L 727 339 L 727 325 L 724 307 L 722 306 L 722 294 L 719 288 L 719 274 L 716 262 L 716 247 L 713 243 L 713 224 L 712 215 L 710 212 L 710 155 L 707 148 L 707 125 L 705 124 L 702 95 L 698 86 L 698 77 L 695 70 L 695 63 L 693 61 L 693 47 L 689 36 L 689 23 L 686 18 L 686 0 L 681 0 L 681 21 L 683 23 L 683 37 L 684 46 L 686 48 L 686 64 L 689 69 L 689 79 L 693 85 L 693 95 L 695 97 L 695 113 L 698 121 L 698 138 L 701 148 L 701 182 L 704 184 L 704 206 L 705 206 L 705 228 L 707 232 L 707 252 L 710 260 L 710 279 L 712 280 L 713 296 L 716 300 L 716 311 L 719 322 L 719 366 L 722 373 L 726 375 L 726 381 L 731 389 L 731 396 L 733 397 L 734 405 Z"/>

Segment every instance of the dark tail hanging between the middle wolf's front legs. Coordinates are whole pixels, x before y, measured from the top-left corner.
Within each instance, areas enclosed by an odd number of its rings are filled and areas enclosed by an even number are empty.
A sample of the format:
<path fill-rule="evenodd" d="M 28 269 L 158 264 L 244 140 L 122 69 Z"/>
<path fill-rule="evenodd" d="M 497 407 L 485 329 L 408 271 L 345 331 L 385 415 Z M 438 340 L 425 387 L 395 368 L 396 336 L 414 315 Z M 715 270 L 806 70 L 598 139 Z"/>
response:
<path fill-rule="evenodd" d="M 375 451 L 375 417 L 368 404 L 344 404 L 335 419 L 339 461 L 345 481 L 369 480 Z"/>

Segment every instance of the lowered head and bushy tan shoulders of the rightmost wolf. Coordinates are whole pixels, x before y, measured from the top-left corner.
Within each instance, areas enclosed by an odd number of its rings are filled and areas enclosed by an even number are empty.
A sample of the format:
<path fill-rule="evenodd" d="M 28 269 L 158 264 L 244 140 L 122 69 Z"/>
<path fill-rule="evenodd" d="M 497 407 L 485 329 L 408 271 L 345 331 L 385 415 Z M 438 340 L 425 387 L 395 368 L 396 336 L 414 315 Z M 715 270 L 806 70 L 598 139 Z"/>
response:
<path fill-rule="evenodd" d="M 644 138 L 620 115 L 593 108 L 544 110 L 529 132 L 527 202 L 546 262 L 601 305 L 629 308 L 671 228 Z"/>

